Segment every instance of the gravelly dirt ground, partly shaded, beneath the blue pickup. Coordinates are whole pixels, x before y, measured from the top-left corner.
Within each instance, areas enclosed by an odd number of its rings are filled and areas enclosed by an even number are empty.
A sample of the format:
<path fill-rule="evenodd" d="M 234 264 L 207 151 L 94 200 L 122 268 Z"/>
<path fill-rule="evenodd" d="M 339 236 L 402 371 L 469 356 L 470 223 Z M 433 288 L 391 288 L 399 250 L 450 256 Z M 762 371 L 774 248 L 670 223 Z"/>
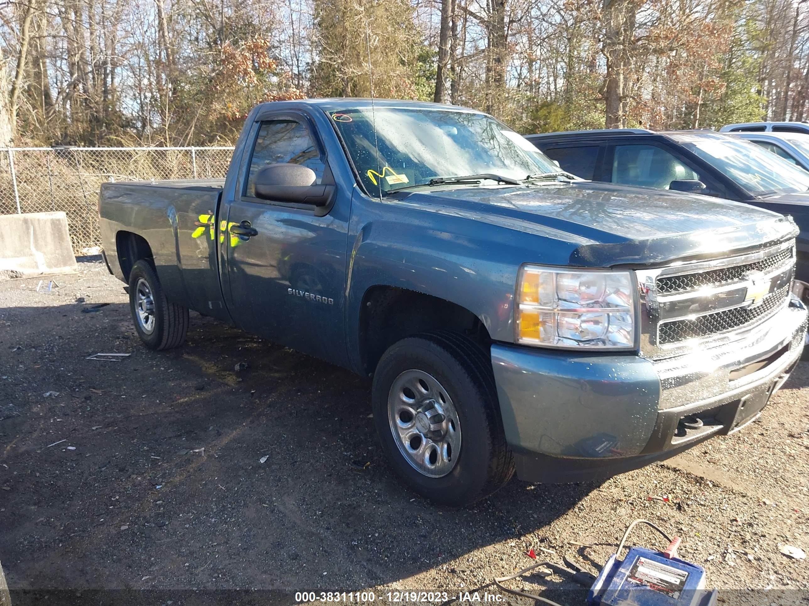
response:
<path fill-rule="evenodd" d="M 441 509 L 385 464 L 368 380 L 197 314 L 184 347 L 149 351 L 123 284 L 79 265 L 53 292 L 0 282 L 0 562 L 15 606 L 141 589 L 150 604 L 368 590 L 513 603 L 491 580 L 531 564 L 529 549 L 595 573 L 637 517 L 683 537 L 709 587 L 756 590 L 721 602 L 809 604 L 809 563 L 781 553 L 809 551 L 809 364 L 733 436 L 606 482 L 513 481 Z M 630 542 L 665 546 L 646 528 Z M 586 596 L 561 573 L 510 586 Z"/>

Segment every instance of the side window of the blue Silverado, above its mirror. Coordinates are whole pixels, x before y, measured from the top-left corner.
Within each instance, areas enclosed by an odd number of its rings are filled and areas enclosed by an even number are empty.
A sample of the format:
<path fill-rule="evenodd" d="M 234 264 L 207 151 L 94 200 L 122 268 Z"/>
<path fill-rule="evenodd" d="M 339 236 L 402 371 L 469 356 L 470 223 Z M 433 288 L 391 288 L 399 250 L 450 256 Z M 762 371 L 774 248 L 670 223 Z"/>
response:
<path fill-rule="evenodd" d="M 253 148 L 244 195 L 256 196 L 256 173 L 270 164 L 302 164 L 315 171 L 315 183 L 323 179 L 325 166 L 309 131 L 295 120 L 267 120 L 261 123 Z"/>

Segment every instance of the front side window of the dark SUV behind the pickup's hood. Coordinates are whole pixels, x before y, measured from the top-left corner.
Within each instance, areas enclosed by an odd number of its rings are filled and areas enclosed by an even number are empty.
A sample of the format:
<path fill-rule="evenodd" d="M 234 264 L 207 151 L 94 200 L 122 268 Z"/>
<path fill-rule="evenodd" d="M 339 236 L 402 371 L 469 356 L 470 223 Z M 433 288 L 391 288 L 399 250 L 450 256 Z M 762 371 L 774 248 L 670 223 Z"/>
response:
<path fill-rule="evenodd" d="M 616 145 L 612 183 L 668 189 L 672 181 L 702 180 L 672 154 L 656 145 Z"/>

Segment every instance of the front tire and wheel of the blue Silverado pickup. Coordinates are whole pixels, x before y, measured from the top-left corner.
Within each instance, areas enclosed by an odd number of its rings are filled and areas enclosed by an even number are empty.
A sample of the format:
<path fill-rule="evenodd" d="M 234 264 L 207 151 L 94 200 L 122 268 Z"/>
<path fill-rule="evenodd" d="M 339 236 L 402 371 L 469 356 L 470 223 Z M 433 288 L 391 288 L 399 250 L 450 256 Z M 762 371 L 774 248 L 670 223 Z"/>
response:
<path fill-rule="evenodd" d="M 377 365 L 371 402 L 390 465 L 426 499 L 464 507 L 514 474 L 491 361 L 464 336 L 426 333 L 394 343 Z"/>

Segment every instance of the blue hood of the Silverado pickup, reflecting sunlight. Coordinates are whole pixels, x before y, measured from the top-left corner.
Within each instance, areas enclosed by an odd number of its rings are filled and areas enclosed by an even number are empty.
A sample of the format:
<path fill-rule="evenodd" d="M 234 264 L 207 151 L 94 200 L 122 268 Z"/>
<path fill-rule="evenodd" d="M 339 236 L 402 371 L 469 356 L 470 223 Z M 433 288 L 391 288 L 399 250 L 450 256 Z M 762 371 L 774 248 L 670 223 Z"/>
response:
<path fill-rule="evenodd" d="M 424 210 L 574 242 L 570 264 L 584 267 L 712 258 L 798 234 L 786 217 L 748 204 L 610 183 L 463 187 L 400 196 Z"/>

